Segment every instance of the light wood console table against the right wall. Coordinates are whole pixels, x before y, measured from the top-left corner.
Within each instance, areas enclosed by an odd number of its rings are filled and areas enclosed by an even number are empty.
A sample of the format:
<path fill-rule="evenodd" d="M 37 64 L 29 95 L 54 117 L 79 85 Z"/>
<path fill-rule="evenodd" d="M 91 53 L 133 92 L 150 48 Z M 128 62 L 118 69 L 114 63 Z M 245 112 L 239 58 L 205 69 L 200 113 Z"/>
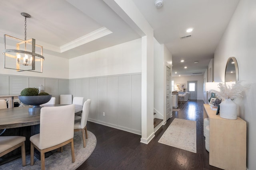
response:
<path fill-rule="evenodd" d="M 209 164 L 224 170 L 246 170 L 246 121 L 223 119 L 204 104 L 210 121 Z"/>

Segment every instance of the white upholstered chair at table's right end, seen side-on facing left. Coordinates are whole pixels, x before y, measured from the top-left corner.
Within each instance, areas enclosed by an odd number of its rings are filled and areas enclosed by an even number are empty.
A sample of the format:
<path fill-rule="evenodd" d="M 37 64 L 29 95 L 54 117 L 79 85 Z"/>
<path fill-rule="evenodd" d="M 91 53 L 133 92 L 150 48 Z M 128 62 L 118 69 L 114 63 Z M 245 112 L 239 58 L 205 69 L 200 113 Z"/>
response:
<path fill-rule="evenodd" d="M 81 119 L 75 120 L 75 123 L 74 123 L 74 131 L 75 132 L 82 131 L 84 148 L 86 147 L 85 137 L 86 137 L 86 139 L 88 139 L 86 124 L 87 124 L 87 119 L 88 119 L 88 115 L 89 115 L 89 111 L 90 111 L 90 104 L 91 104 L 90 99 L 87 99 L 84 102 Z"/>

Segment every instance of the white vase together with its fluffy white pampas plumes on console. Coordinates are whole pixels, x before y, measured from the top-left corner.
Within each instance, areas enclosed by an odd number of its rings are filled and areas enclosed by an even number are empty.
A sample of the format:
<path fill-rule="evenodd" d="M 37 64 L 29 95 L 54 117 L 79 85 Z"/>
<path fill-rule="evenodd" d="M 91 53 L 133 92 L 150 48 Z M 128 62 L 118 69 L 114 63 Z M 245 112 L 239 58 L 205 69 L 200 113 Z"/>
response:
<path fill-rule="evenodd" d="M 241 82 L 236 84 L 218 84 L 220 91 L 210 90 L 210 92 L 216 93 L 218 98 L 225 99 L 220 103 L 220 117 L 224 119 L 237 119 L 237 105 L 234 100 L 235 98 L 242 98 L 242 92 L 249 88 L 249 85 L 242 85 Z"/>

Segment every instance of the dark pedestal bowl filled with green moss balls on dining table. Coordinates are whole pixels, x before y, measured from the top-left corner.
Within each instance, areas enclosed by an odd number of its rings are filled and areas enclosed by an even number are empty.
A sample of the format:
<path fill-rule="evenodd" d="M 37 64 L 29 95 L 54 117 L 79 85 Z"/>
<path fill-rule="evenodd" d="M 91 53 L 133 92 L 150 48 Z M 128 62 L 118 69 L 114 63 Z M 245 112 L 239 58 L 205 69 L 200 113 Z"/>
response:
<path fill-rule="evenodd" d="M 34 112 L 41 109 L 40 104 L 49 102 L 52 95 L 46 92 L 38 93 L 38 88 L 25 88 L 20 92 L 18 98 L 23 104 L 33 105 L 33 107 L 28 108 L 28 111 Z"/>

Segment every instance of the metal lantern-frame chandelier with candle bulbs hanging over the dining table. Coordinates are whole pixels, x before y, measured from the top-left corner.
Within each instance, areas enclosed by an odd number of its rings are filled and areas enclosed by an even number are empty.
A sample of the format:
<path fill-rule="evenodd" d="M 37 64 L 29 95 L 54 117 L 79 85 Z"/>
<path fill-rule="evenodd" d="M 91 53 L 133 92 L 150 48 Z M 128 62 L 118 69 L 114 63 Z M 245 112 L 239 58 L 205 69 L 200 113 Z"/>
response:
<path fill-rule="evenodd" d="M 36 45 L 35 39 L 27 40 L 26 19 L 31 18 L 31 16 L 24 12 L 21 15 L 25 17 L 25 39 L 4 35 L 4 68 L 19 72 L 43 72 L 43 47 Z"/>

